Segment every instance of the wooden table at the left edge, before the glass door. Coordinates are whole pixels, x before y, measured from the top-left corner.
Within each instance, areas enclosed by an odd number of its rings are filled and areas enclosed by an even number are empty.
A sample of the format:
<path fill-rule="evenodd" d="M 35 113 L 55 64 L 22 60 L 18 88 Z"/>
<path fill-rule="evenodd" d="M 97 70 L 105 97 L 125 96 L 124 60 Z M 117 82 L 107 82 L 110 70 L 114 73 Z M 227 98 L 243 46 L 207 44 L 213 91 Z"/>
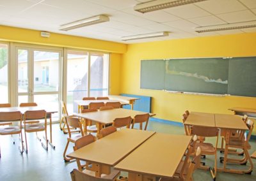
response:
<path fill-rule="evenodd" d="M 51 145 L 52 148 L 55 149 L 55 146 L 52 144 L 52 113 L 57 113 L 58 111 L 56 111 L 55 108 L 51 108 L 50 107 L 45 107 L 45 106 L 22 106 L 22 107 L 8 107 L 8 108 L 0 108 L 0 112 L 15 112 L 15 111 L 19 111 L 22 114 L 24 114 L 26 111 L 29 110 L 45 110 L 46 114 L 47 114 L 47 118 L 49 118 L 50 122 L 50 141 L 49 144 Z"/>

